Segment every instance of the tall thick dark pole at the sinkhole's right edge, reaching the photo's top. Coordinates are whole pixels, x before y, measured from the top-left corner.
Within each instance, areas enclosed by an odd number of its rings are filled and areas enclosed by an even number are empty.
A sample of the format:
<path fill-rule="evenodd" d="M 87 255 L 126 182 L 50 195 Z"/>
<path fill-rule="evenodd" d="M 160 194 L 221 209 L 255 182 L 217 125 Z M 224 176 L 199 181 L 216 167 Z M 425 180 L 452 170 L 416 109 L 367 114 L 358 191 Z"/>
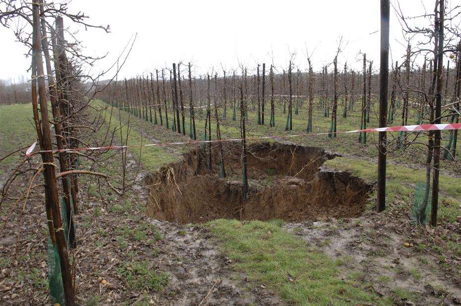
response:
<path fill-rule="evenodd" d="M 381 62 L 379 68 L 379 127 L 387 125 L 389 84 L 389 0 L 381 0 Z M 386 132 L 378 135 L 378 202 L 376 210 L 386 208 Z"/>

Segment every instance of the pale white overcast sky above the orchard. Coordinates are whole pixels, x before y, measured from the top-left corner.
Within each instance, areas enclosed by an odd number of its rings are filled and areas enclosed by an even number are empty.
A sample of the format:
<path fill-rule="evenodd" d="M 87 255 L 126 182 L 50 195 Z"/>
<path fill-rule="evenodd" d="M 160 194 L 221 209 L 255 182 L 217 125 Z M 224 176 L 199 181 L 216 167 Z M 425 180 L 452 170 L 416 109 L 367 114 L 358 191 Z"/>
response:
<path fill-rule="evenodd" d="M 59 0 L 55 1 L 59 2 Z M 296 52 L 295 65 L 306 69 L 306 51 L 314 70 L 333 61 L 340 37 L 344 51 L 342 66 L 360 69 L 358 52 L 379 63 L 379 0 L 175 0 L 108 1 L 73 0 L 70 8 L 90 16 L 90 23 L 110 25 L 111 33 L 81 28 L 78 38 L 88 55 L 104 55 L 93 73 L 110 66 L 128 40 L 137 33 L 133 50 L 121 77 L 155 71 L 173 62 L 191 61 L 196 73 L 214 67 L 221 71 L 243 63 L 253 69 L 256 63 L 272 61 L 287 67 Z M 407 16 L 433 10 L 434 0 L 400 0 Z M 453 2 L 453 3 L 450 3 Z M 456 1 L 450 1 L 455 5 Z M 397 5 L 397 0 L 391 0 Z M 391 5 L 391 60 L 404 54 L 402 29 Z M 66 23 L 67 22 L 67 23 Z M 69 21 L 64 19 L 64 26 Z M 75 29 L 72 28 L 72 29 Z M 375 33 L 374 33 L 375 32 Z M 374 33 L 374 34 L 370 34 Z M 0 78 L 26 78 L 30 59 L 25 47 L 14 42 L 11 30 L 0 28 Z"/>

